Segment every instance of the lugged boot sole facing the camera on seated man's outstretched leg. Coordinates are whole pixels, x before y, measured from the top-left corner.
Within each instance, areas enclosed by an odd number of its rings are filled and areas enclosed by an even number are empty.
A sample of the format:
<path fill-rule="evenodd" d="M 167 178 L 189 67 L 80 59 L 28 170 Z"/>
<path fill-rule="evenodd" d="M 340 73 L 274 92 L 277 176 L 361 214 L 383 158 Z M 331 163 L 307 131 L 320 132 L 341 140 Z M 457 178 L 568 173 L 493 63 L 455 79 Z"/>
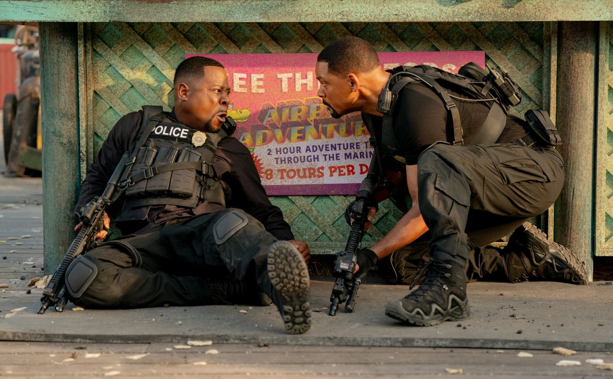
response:
<path fill-rule="evenodd" d="M 268 251 L 268 277 L 283 299 L 283 323 L 289 334 L 311 327 L 307 264 L 291 242 L 278 241 Z"/>

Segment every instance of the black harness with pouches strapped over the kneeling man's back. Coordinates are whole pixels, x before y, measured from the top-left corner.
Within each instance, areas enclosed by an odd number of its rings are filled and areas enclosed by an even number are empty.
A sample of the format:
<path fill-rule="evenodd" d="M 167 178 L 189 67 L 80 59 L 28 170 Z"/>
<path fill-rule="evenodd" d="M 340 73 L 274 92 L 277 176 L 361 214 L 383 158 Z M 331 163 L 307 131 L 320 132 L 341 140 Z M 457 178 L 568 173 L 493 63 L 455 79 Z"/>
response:
<path fill-rule="evenodd" d="M 435 67 L 420 65 L 414 67 L 400 66 L 390 72 L 390 78 L 379 94 L 377 111 L 383 113 L 380 145 L 387 156 L 392 156 L 401 163 L 406 163 L 398 155 L 399 148 L 394 136 L 394 107 L 400 97 L 400 91 L 411 83 L 421 83 L 443 101 L 447 111 L 447 143 L 462 145 L 463 130 L 460 122 L 460 112 L 453 99 L 457 101 L 482 102 L 490 108 L 484 124 L 471 144 L 493 143 L 504 129 L 509 108 L 521 102 L 522 96 L 515 82 L 509 75 L 498 69 L 489 69 L 489 73 L 478 64 L 468 63 L 460 67 L 459 74 L 443 71 Z M 455 96 L 449 89 L 459 93 Z M 372 128 L 370 115 L 362 114 L 367 128 Z M 372 131 L 370 131 L 372 134 Z"/>

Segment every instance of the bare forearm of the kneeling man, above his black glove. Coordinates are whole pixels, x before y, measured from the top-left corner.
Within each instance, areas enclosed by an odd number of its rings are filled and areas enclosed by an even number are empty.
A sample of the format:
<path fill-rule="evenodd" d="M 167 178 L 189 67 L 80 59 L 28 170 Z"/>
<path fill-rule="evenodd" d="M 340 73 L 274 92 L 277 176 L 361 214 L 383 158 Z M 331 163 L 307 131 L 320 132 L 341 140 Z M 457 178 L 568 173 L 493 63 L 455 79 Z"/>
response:
<path fill-rule="evenodd" d="M 427 231 L 428 227 L 424 223 L 419 205 L 417 205 L 417 202 L 414 202 L 409 212 L 398 220 L 394 228 L 379 240 L 379 242 L 375 243 L 375 245 L 371 247 L 371 250 L 375 251 L 379 259 L 384 258 L 395 250 L 418 239 Z"/>

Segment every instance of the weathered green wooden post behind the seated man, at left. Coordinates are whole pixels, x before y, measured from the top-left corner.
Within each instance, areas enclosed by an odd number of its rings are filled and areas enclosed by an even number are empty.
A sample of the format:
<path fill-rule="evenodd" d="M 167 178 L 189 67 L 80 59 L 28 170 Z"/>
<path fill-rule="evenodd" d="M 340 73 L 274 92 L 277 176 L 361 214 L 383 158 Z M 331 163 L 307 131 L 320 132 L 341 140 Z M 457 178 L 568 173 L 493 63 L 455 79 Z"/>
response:
<path fill-rule="evenodd" d="M 44 22 L 40 31 L 45 274 L 53 274 L 74 238 L 77 201 L 77 24 Z M 75 180 L 76 179 L 76 180 Z"/>

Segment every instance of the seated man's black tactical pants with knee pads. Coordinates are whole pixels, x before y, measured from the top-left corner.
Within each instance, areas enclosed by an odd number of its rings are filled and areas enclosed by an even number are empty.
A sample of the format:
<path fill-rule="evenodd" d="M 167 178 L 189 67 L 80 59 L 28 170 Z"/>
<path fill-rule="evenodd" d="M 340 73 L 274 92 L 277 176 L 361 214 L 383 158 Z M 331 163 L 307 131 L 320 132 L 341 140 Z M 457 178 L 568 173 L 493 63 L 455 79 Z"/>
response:
<path fill-rule="evenodd" d="M 242 213 L 248 222 L 218 243 L 213 229 L 230 212 Z M 259 221 L 237 209 L 167 223 L 88 251 L 83 258 L 98 272 L 83 296 L 72 301 L 95 308 L 207 305 L 210 280 L 228 276 L 271 296 L 267 253 L 275 241 Z"/>

